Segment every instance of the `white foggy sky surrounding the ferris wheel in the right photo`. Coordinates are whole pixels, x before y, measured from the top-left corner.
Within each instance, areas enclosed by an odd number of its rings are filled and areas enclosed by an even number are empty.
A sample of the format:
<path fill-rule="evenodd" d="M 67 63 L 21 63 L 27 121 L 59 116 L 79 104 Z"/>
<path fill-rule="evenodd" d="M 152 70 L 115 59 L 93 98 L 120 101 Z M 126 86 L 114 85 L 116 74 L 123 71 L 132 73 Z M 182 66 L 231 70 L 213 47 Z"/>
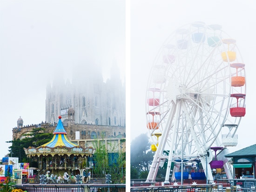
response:
<path fill-rule="evenodd" d="M 132 0 L 131 1 L 131 141 L 148 132 L 146 127 L 146 89 L 149 72 L 155 57 L 168 36 L 175 29 L 196 21 L 207 25 L 219 24 L 222 30 L 236 40 L 243 57 L 246 73 L 246 115 L 242 118 L 238 145 L 233 152 L 256 144 L 254 78 L 256 3 L 253 0 Z"/>

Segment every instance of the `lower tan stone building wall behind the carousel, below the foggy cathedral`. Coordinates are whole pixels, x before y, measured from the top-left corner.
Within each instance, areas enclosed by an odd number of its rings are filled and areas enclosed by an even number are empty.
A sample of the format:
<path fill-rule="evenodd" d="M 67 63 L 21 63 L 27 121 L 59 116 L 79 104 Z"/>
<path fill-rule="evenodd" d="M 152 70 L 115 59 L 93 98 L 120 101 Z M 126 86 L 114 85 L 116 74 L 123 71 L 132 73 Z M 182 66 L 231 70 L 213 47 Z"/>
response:
<path fill-rule="evenodd" d="M 15 127 L 13 128 L 13 140 L 22 139 L 24 134 L 36 127 L 45 128 L 45 132 L 54 132 L 56 126 L 57 123 L 42 122 L 31 126 Z M 74 120 L 68 120 L 63 126 L 67 132 L 67 138 L 79 146 L 95 148 L 96 141 L 104 143 L 108 152 L 126 152 L 126 128 L 124 126 L 74 124 Z"/>

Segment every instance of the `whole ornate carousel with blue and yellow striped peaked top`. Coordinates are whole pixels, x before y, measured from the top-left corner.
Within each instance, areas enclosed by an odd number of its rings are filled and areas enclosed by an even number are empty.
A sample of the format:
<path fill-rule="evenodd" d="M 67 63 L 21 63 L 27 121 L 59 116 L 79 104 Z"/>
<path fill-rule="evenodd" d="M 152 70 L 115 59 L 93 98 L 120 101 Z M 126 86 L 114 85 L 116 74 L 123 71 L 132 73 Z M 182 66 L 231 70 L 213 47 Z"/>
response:
<path fill-rule="evenodd" d="M 38 162 L 38 174 L 52 172 L 63 175 L 68 172 L 81 175 L 85 169 L 89 169 L 88 157 L 93 156 L 93 147 L 78 146 L 69 141 L 61 116 L 53 134 L 53 138 L 44 145 L 24 148 L 27 157 Z"/>

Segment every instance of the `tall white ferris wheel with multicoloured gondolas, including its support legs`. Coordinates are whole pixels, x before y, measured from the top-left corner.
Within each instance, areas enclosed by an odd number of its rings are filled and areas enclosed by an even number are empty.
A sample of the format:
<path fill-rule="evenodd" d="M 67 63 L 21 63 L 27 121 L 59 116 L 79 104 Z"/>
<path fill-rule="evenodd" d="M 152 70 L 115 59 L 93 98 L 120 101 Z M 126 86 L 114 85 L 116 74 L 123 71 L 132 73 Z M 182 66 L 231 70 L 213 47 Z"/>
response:
<path fill-rule="evenodd" d="M 220 25 L 194 22 L 168 37 L 148 80 L 147 128 L 155 156 L 147 181 L 155 180 L 166 159 L 165 183 L 175 159 L 200 158 L 207 172 L 217 160 L 214 147 L 236 146 L 245 115 L 244 66 L 236 40 Z"/>

